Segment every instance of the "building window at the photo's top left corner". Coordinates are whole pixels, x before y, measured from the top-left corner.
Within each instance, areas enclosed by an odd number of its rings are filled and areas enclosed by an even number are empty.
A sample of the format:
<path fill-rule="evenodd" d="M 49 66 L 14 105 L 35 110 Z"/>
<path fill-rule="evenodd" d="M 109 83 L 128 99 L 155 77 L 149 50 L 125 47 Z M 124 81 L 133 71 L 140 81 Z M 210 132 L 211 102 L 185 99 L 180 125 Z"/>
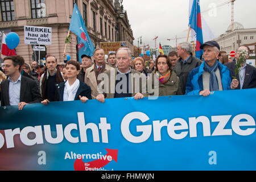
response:
<path fill-rule="evenodd" d="M 1 0 L 3 22 L 15 20 L 13 0 Z"/>

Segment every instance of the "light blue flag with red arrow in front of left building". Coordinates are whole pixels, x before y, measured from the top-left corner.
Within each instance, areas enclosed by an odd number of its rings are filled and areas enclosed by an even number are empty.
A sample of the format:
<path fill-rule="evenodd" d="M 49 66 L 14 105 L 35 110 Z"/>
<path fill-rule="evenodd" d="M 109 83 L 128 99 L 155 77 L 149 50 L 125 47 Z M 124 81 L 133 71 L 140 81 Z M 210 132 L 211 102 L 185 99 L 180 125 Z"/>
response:
<path fill-rule="evenodd" d="M 90 37 L 84 24 L 84 20 L 82 19 L 81 13 L 76 4 L 74 5 L 69 30 L 77 36 L 80 63 L 81 55 L 93 56 L 94 45 L 92 43 L 92 40 L 90 40 Z"/>

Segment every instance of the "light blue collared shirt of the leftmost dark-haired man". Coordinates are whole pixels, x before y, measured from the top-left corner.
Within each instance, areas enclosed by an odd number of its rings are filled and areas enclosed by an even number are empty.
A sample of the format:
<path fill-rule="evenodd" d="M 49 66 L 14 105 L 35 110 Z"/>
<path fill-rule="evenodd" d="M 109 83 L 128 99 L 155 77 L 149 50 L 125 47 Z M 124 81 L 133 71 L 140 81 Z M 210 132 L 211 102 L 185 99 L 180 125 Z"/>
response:
<path fill-rule="evenodd" d="M 11 106 L 19 105 L 20 102 L 20 84 L 21 84 L 21 75 L 17 81 L 12 81 L 10 77 L 9 80 L 9 101 Z"/>

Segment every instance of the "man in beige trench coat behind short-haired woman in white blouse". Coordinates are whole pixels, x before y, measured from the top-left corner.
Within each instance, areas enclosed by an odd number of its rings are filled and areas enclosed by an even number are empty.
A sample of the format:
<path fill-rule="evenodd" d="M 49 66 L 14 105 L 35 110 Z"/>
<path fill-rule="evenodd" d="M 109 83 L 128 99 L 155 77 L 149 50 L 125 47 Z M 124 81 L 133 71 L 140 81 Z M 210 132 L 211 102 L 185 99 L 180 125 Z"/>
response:
<path fill-rule="evenodd" d="M 90 89 L 92 90 L 92 99 L 96 99 L 99 94 L 97 90 L 98 84 L 101 81 L 98 80 L 98 75 L 104 73 L 107 70 L 110 70 L 110 68 L 112 67 L 110 67 L 110 65 L 106 63 L 103 49 L 95 49 L 93 53 L 93 59 L 95 63 L 91 67 L 86 69 L 84 82 L 85 84 L 90 86 Z"/>

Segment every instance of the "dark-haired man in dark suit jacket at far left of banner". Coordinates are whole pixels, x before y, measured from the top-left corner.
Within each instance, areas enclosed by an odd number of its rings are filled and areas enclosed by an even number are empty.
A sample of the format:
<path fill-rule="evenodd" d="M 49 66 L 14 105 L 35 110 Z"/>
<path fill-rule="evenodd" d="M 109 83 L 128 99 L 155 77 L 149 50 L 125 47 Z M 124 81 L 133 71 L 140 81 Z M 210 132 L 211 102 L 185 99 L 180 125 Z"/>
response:
<path fill-rule="evenodd" d="M 21 56 L 3 59 L 3 71 L 8 78 L 1 82 L 1 106 L 18 105 L 19 110 L 22 110 L 25 105 L 42 101 L 36 82 L 20 75 L 23 64 Z"/>

